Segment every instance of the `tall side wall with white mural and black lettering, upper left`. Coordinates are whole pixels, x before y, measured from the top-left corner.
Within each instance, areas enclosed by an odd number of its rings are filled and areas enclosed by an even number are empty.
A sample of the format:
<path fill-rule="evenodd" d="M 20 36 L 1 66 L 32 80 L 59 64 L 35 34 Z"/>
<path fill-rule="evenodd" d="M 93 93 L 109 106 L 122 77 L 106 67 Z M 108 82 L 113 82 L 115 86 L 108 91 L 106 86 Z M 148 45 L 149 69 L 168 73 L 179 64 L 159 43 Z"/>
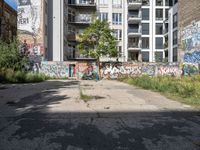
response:
<path fill-rule="evenodd" d="M 18 37 L 30 55 L 44 55 L 43 0 L 18 0 Z"/>

